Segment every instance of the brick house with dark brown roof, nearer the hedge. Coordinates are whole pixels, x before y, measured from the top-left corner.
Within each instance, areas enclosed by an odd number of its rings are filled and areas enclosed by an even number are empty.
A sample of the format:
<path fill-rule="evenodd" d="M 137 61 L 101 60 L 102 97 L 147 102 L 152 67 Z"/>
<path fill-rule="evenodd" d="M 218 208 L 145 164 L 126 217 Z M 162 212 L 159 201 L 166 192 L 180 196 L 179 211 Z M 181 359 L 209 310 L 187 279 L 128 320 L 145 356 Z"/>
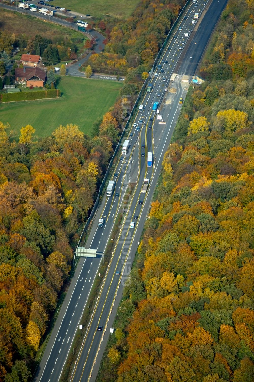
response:
<path fill-rule="evenodd" d="M 16 68 L 16 84 L 25 84 L 26 86 L 44 86 L 46 73 L 37 66 L 35 68 Z"/>

